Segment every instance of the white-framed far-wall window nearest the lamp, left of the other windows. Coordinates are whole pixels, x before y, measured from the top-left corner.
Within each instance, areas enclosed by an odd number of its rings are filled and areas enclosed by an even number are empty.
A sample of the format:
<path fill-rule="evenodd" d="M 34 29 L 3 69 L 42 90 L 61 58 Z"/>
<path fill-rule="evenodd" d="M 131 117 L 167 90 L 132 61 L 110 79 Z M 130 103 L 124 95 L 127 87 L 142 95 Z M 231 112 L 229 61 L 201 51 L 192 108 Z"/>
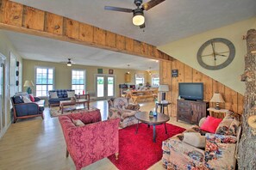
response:
<path fill-rule="evenodd" d="M 53 68 L 37 67 L 36 71 L 36 96 L 47 96 L 53 89 Z"/>

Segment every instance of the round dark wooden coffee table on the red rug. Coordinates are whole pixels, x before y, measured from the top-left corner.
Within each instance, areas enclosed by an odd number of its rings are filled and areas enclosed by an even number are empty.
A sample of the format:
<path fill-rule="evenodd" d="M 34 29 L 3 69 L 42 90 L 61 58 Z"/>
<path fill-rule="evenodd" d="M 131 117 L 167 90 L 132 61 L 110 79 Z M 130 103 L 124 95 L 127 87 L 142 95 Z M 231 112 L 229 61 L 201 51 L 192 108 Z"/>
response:
<path fill-rule="evenodd" d="M 153 125 L 153 143 L 155 143 L 155 138 L 156 138 L 155 126 L 159 125 L 159 124 L 165 124 L 167 121 L 170 120 L 169 116 L 167 116 L 163 113 L 158 113 L 158 115 L 155 117 L 149 117 L 148 112 L 137 112 L 137 113 L 135 113 L 134 116 L 135 116 L 135 118 L 138 119 L 136 134 L 138 133 L 138 128 L 139 128 L 140 122 L 147 124 L 148 127 L 149 127 L 149 125 Z M 165 134 L 167 134 L 166 124 L 165 124 Z"/>

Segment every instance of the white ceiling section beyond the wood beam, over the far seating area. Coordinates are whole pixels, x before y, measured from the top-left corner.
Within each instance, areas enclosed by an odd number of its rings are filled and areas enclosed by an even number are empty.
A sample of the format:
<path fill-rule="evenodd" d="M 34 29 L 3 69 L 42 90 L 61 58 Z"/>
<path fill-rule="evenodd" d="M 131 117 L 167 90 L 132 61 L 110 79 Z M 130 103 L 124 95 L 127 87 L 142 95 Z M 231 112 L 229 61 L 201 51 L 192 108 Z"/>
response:
<path fill-rule="evenodd" d="M 154 59 L 141 58 L 24 33 L 9 31 L 3 31 L 3 33 L 9 37 L 17 52 L 22 54 L 22 58 L 26 59 L 66 63 L 67 58 L 72 58 L 74 63 L 81 65 L 131 70 L 159 70 L 159 63 Z"/>

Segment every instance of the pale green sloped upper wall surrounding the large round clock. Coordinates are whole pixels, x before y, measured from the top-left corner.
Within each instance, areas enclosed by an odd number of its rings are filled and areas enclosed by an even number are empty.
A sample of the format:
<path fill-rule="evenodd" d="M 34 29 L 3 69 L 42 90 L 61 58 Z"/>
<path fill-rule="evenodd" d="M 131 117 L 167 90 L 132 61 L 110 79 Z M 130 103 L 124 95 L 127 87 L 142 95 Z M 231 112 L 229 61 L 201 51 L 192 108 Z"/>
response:
<path fill-rule="evenodd" d="M 244 94 L 245 83 L 240 82 L 240 75 L 245 69 L 244 56 L 247 54 L 247 42 L 242 37 L 247 34 L 247 30 L 252 28 L 256 28 L 256 17 L 180 39 L 165 46 L 158 46 L 158 49 L 212 77 L 216 81 L 222 82 L 222 84 L 240 94 Z M 197 51 L 200 46 L 207 40 L 214 38 L 229 39 L 235 47 L 234 60 L 222 70 L 206 70 L 197 63 Z"/>

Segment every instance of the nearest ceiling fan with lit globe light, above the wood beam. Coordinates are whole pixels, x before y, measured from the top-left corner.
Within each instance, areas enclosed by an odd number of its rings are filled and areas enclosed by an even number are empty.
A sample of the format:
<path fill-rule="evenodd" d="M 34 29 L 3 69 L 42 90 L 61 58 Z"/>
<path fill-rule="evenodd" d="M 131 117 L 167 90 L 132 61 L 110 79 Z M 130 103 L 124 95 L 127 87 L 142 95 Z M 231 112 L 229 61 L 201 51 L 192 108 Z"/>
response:
<path fill-rule="evenodd" d="M 120 7 L 112 7 L 112 6 L 105 6 L 105 10 L 114 10 L 119 12 L 127 12 L 127 13 L 133 13 L 133 23 L 135 26 L 139 26 L 140 28 L 145 27 L 145 17 L 143 14 L 144 10 L 152 9 L 154 6 L 158 5 L 159 3 L 164 2 L 165 0 L 151 0 L 147 3 L 144 3 L 141 5 L 142 0 L 134 0 L 134 4 L 137 6 L 136 9 L 126 9 L 126 8 L 120 8 Z M 141 7 L 140 7 L 141 5 Z"/>

